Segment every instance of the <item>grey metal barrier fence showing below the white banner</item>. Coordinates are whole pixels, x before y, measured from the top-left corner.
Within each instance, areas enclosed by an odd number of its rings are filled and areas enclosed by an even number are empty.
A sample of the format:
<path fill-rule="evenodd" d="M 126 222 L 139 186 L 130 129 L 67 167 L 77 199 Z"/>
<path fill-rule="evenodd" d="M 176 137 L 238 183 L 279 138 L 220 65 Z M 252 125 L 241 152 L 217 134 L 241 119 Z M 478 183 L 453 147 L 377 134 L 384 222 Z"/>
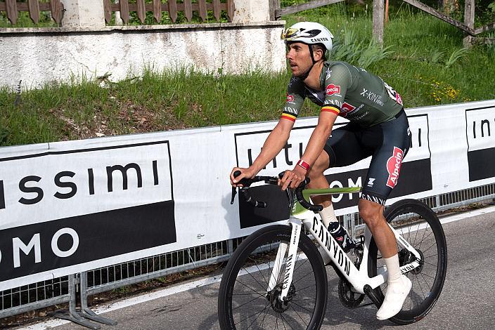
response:
<path fill-rule="evenodd" d="M 488 202 L 493 199 L 495 199 L 495 184 L 492 183 L 420 200 L 438 212 L 475 202 Z M 359 232 L 364 227 L 363 220 L 358 213 L 340 216 L 339 220 L 354 237 L 356 232 Z M 111 324 L 109 320 L 98 318 L 96 315 L 89 315 L 91 310 L 87 308 L 88 296 L 228 260 L 231 253 L 242 241 L 243 237 L 227 239 L 221 242 L 99 268 L 79 275 L 60 277 L 51 281 L 0 291 L 0 318 L 60 303 L 69 303 L 70 315 L 71 312 L 75 313 L 75 294 L 76 291 L 80 291 L 80 309 L 82 312 L 77 312 L 76 317 L 63 318 L 71 319 L 73 322 L 84 324 L 92 329 L 99 329 L 98 325 L 87 321 L 78 322 L 79 315 L 82 315 L 98 322 Z M 77 288 L 79 290 L 76 290 Z M 57 316 L 61 317 L 60 315 Z"/>

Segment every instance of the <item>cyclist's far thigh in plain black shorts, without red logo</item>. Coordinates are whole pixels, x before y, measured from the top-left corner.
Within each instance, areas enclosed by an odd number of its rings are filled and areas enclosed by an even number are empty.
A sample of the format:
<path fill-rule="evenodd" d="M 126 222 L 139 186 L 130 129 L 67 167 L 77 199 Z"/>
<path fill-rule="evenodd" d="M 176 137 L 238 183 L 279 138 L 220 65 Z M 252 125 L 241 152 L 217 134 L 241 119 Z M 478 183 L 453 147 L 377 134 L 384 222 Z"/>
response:
<path fill-rule="evenodd" d="M 359 140 L 360 128 L 347 124 L 332 131 L 323 150 L 330 158 L 329 167 L 354 164 L 356 161 L 371 156 L 372 150 L 365 148 Z"/>

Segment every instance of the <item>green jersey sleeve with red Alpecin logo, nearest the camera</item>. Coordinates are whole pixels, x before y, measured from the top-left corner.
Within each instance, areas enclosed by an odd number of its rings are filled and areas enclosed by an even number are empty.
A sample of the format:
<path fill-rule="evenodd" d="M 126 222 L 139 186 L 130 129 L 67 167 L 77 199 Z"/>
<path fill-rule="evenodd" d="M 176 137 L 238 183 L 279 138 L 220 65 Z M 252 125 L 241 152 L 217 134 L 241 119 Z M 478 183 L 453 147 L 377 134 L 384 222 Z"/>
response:
<path fill-rule="evenodd" d="M 325 102 L 321 111 L 340 114 L 347 88 L 352 84 L 351 72 L 342 64 L 328 67 L 325 78 Z"/>

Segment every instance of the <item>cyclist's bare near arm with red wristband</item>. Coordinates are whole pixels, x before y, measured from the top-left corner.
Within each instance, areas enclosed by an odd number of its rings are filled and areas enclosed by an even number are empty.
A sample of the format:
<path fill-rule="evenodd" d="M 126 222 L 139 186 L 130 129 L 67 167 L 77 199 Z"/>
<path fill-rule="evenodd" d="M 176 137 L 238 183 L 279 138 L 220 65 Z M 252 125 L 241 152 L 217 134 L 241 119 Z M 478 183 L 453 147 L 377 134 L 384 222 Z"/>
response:
<path fill-rule="evenodd" d="M 306 150 L 304 150 L 304 154 L 302 154 L 302 159 L 306 161 L 309 166 L 312 166 L 314 164 L 316 159 L 323 151 L 326 140 L 328 140 L 328 137 L 330 137 L 330 133 L 332 133 L 335 119 L 337 119 L 337 114 L 333 112 L 320 112 L 318 124 L 314 128 L 313 133 L 311 133 L 311 138 L 309 138 Z M 282 190 L 287 189 L 287 187 L 289 186 L 291 188 L 297 187 L 298 185 L 300 185 L 300 183 L 302 183 L 306 176 L 307 171 L 301 166 L 297 165 L 294 167 L 293 171 L 285 171 L 285 174 L 280 183 L 280 185 L 282 186 Z"/>

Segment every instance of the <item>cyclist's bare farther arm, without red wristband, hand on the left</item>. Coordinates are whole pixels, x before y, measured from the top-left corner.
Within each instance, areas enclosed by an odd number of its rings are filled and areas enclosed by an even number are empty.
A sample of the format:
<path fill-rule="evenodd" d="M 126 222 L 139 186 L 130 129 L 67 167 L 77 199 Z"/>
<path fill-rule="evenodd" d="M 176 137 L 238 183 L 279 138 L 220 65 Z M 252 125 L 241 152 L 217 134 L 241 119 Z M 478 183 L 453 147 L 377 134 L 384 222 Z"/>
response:
<path fill-rule="evenodd" d="M 256 157 L 252 165 L 247 169 L 242 169 L 235 167 L 231 172 L 231 185 L 236 187 L 238 182 L 243 178 L 253 178 L 261 171 L 266 164 L 268 164 L 271 159 L 281 152 L 283 147 L 287 144 L 290 136 L 290 130 L 294 126 L 294 121 L 281 118 L 276 124 L 275 128 L 270 132 L 268 138 L 266 138 L 262 152 Z M 240 176 L 237 178 L 233 177 L 235 171 L 240 171 Z"/>

